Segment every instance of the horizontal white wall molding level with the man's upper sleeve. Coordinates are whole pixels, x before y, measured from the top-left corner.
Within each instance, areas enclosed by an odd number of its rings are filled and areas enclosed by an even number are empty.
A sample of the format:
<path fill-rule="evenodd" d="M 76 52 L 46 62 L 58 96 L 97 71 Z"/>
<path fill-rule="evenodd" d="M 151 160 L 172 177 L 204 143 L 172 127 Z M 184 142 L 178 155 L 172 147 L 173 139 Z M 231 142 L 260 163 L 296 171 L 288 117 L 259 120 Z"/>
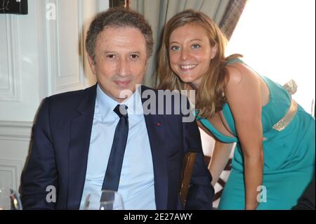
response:
<path fill-rule="evenodd" d="M 29 141 L 32 136 L 33 122 L 0 121 L 0 140 Z"/>

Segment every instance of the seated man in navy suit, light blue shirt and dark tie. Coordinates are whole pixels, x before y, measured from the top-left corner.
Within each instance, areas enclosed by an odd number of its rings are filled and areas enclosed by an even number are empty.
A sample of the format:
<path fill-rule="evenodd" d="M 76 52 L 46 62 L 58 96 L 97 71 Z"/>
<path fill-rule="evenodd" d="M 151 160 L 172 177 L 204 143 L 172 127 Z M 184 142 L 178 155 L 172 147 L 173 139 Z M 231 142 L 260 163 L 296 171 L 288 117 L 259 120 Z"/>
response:
<path fill-rule="evenodd" d="M 158 91 L 137 87 L 152 45 L 150 25 L 139 13 L 112 8 L 91 22 L 86 50 L 98 82 L 44 99 L 22 173 L 24 209 L 84 209 L 86 196 L 107 189 L 110 178 L 125 209 L 211 209 L 213 187 L 197 124 L 176 112 L 177 95 L 164 95 L 171 101 L 162 104 Z M 123 129 L 126 138 L 117 137 Z M 109 177 L 119 161 L 117 145 L 124 145 L 119 175 Z M 188 150 L 197 159 L 182 208 L 180 173 Z"/>

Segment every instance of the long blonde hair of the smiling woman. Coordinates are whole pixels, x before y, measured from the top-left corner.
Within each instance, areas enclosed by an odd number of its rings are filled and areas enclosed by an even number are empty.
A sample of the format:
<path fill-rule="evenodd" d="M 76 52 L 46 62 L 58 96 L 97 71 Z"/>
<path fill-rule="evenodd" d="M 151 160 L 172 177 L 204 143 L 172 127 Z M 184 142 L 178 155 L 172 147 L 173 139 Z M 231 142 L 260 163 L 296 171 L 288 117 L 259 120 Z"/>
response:
<path fill-rule="evenodd" d="M 185 89 L 187 84 L 171 70 L 169 60 L 169 39 L 171 33 L 183 25 L 194 24 L 202 26 L 209 37 L 211 47 L 217 48 L 216 56 L 210 61 L 209 70 L 202 76 L 202 82 L 197 90 L 195 107 L 199 110 L 199 116 L 211 118 L 213 115 L 222 110 L 226 103 L 224 89 L 228 82 L 226 62 L 230 58 L 238 58 L 241 55 L 230 55 L 225 58 L 225 46 L 227 39 L 223 32 L 220 31 L 211 18 L 201 12 L 186 10 L 180 12 L 167 22 L 164 28 L 162 47 L 159 52 L 159 88 L 169 90 Z"/>

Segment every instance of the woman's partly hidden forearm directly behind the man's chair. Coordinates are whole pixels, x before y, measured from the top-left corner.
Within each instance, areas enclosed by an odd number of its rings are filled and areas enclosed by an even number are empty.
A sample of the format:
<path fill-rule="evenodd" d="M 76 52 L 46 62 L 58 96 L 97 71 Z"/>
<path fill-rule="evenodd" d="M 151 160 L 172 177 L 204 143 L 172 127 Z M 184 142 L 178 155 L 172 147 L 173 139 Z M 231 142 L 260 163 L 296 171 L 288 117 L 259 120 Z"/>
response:
<path fill-rule="evenodd" d="M 215 141 L 211 162 L 209 163 L 209 171 L 213 177 L 213 186 L 217 183 L 220 173 L 222 173 L 228 163 L 230 152 L 232 152 L 232 145 L 232 143 L 221 143 L 218 140 Z"/>

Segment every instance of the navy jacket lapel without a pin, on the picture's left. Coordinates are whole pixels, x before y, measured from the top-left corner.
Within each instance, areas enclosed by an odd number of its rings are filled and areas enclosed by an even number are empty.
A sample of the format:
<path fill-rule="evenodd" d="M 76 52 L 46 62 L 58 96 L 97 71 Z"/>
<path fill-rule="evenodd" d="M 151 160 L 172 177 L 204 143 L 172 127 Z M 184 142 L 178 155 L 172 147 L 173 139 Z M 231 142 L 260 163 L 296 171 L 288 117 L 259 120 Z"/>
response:
<path fill-rule="evenodd" d="M 96 103 L 96 85 L 85 90 L 77 107 L 78 114 L 70 124 L 69 185 L 67 209 L 79 209 L 88 161 L 88 149 Z"/>

